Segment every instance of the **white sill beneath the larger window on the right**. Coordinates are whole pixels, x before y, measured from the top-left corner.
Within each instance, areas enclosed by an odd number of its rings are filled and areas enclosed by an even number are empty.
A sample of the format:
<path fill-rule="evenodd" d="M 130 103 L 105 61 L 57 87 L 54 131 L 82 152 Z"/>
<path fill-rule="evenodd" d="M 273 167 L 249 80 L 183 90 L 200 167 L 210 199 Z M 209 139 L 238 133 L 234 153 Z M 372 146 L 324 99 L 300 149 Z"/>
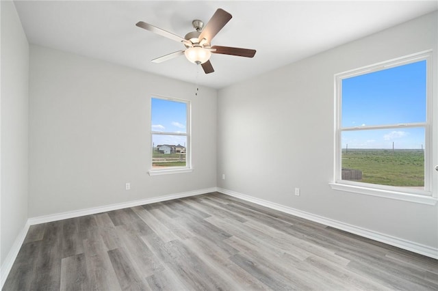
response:
<path fill-rule="evenodd" d="M 409 193 L 389 191 L 383 189 L 371 189 L 363 186 L 356 186 L 356 185 L 353 186 L 353 185 L 340 184 L 340 183 L 329 183 L 329 184 L 331 186 L 331 189 L 334 190 L 359 193 L 363 195 L 371 195 L 371 196 L 396 199 L 396 200 L 402 200 L 402 201 L 413 202 L 418 204 L 427 204 L 427 205 L 435 205 L 438 202 L 437 197 L 426 196 L 426 195 L 409 194 Z"/>

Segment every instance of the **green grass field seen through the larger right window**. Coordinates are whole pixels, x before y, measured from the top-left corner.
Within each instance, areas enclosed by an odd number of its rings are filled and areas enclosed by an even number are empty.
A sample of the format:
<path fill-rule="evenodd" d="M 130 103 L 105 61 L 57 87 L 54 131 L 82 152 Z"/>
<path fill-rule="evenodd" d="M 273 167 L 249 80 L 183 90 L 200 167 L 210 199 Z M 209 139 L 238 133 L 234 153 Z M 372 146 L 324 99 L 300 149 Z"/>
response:
<path fill-rule="evenodd" d="M 342 149 L 342 167 L 362 171 L 360 182 L 389 186 L 424 186 L 423 150 Z"/>

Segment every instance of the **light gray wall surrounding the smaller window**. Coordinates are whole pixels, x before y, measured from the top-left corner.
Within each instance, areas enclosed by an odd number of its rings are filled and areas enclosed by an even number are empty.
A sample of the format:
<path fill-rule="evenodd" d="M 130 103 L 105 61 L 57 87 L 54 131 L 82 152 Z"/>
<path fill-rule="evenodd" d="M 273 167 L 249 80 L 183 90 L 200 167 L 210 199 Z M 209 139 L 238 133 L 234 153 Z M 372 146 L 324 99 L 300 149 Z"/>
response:
<path fill-rule="evenodd" d="M 215 89 L 33 44 L 29 76 L 29 217 L 216 186 Z M 192 101 L 192 173 L 147 174 L 153 94 Z"/>

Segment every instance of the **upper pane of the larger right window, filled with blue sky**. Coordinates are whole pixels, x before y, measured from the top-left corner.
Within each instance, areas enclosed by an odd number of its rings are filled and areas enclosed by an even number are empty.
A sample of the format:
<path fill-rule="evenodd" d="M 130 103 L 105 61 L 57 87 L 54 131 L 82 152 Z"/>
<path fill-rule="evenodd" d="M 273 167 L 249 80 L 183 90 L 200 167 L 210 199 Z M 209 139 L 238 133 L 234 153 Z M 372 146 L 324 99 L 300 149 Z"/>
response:
<path fill-rule="evenodd" d="M 342 80 L 342 127 L 426 122 L 426 61 Z"/>

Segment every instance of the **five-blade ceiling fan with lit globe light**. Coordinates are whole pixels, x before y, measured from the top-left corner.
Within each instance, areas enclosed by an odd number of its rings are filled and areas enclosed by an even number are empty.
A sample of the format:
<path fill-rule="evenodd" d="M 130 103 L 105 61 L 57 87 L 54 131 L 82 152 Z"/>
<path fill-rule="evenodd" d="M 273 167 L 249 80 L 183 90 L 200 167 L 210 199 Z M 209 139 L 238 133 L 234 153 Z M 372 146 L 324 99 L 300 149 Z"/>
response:
<path fill-rule="evenodd" d="M 220 29 L 224 27 L 231 19 L 231 14 L 225 10 L 218 9 L 211 16 L 209 22 L 204 27 L 204 23 L 201 20 L 193 20 L 192 25 L 196 31 L 189 32 L 184 38 L 175 35 L 174 33 L 165 31 L 159 27 L 150 25 L 149 23 L 144 23 L 139 21 L 136 25 L 142 29 L 149 30 L 153 33 L 157 33 L 160 36 L 170 38 L 177 42 L 184 44 L 185 49 L 182 51 L 176 51 L 175 53 L 170 53 L 168 55 L 163 55 L 162 57 L 157 57 L 152 61 L 155 63 L 161 63 L 162 61 L 167 61 L 168 59 L 173 59 L 174 57 L 179 57 L 180 55 L 185 55 L 189 61 L 194 64 L 201 64 L 205 74 L 214 72 L 213 66 L 209 61 L 211 53 L 218 53 L 222 55 L 237 55 L 239 57 L 254 57 L 255 50 L 248 48 L 233 48 L 230 46 L 211 46 L 211 40 L 218 34 Z"/>

